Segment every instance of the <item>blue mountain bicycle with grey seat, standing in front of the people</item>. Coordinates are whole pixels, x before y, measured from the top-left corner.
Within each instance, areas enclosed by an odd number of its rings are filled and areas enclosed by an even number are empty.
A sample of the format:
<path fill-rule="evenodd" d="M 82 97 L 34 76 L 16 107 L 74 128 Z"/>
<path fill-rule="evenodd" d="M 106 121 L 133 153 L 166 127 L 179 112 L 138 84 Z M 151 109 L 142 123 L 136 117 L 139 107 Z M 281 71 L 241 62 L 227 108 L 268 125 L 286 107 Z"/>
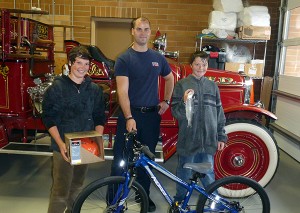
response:
<path fill-rule="evenodd" d="M 126 134 L 126 141 L 129 138 L 133 139 L 134 157 L 124 166 L 123 175 L 106 177 L 90 183 L 75 200 L 74 213 L 147 212 L 147 194 L 135 180 L 138 167 L 144 168 L 157 186 L 169 204 L 169 213 L 270 212 L 268 195 L 256 181 L 243 176 L 229 176 L 216 180 L 204 189 L 198 185 L 198 180 L 212 166 L 207 163 L 188 163 L 185 164 L 185 167 L 192 169 L 194 174 L 190 183 L 184 182 L 157 164 L 153 160 L 154 154 L 147 146 L 137 141 L 135 136 L 135 132 Z M 182 202 L 174 202 L 152 170 L 158 171 L 187 190 Z"/>

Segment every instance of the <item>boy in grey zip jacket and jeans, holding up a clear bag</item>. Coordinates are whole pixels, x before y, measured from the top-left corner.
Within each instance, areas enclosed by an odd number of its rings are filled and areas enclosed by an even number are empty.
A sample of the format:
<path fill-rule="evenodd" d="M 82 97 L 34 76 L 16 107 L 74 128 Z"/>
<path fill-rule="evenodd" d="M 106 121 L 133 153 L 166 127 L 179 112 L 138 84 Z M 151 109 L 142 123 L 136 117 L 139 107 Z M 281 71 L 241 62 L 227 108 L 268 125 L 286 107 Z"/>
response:
<path fill-rule="evenodd" d="M 192 74 L 176 83 L 171 108 L 179 124 L 177 176 L 188 182 L 192 170 L 184 169 L 185 163 L 210 162 L 211 172 L 201 179 L 204 187 L 215 180 L 214 154 L 217 150 L 224 149 L 227 142 L 224 129 L 226 120 L 218 86 L 204 77 L 208 67 L 207 60 L 208 55 L 204 51 L 192 54 Z M 188 126 L 186 102 L 190 93 L 194 93 L 193 112 L 191 126 Z M 175 200 L 183 200 L 185 194 L 186 190 L 177 185 Z"/>

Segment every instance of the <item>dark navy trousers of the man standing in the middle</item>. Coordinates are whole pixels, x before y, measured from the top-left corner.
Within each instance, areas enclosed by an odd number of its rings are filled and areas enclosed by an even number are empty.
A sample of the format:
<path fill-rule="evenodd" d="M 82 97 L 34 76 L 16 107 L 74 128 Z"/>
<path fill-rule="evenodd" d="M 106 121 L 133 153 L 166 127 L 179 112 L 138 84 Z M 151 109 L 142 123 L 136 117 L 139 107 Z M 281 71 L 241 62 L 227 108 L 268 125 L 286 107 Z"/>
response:
<path fill-rule="evenodd" d="M 155 147 L 157 145 L 160 134 L 160 121 L 161 117 L 157 111 L 154 112 L 140 112 L 132 110 L 132 116 L 137 124 L 137 139 L 142 144 L 149 147 L 152 153 L 155 153 Z M 111 175 L 121 175 L 122 169 L 119 166 L 121 160 L 127 160 L 128 157 L 132 157 L 132 141 L 129 141 L 128 152 L 124 152 L 125 148 L 125 136 L 127 133 L 126 122 L 123 115 L 118 118 L 117 133 L 114 142 L 114 160 L 111 166 Z M 146 193 L 150 192 L 150 178 L 143 169 L 138 169 L 137 181 L 143 186 Z"/>

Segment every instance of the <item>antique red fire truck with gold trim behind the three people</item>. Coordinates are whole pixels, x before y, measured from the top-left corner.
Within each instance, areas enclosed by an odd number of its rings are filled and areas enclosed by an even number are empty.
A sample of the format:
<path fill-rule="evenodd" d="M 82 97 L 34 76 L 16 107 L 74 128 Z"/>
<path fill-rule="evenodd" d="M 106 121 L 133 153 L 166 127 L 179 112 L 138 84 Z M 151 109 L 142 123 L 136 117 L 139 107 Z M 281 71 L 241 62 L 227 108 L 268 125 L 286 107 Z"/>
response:
<path fill-rule="evenodd" d="M 43 11 L 1 9 L 0 148 L 2 153 L 51 153 L 48 145 L 39 146 L 36 139 L 43 136 L 41 133 L 47 133 L 41 121 L 41 103 L 43 93 L 55 77 L 51 69 L 54 65 L 53 26 L 23 18 L 21 13 L 42 14 Z M 65 41 L 66 52 L 74 45 L 80 44 Z M 113 77 L 114 62 L 96 46 L 87 47 L 93 56 L 89 75 L 105 91 L 108 120 L 103 137 L 105 156 L 110 159 L 120 113 Z M 174 60 L 175 53 L 163 51 L 163 54 L 168 58 L 176 81 L 191 73 L 188 64 Z M 267 185 L 276 172 L 279 156 L 276 141 L 262 124 L 262 118 L 276 119 L 276 116 L 251 101 L 250 77 L 216 69 L 209 69 L 206 76 L 219 85 L 229 137 L 226 148 L 215 155 L 216 177 L 243 175 Z M 159 79 L 159 85 L 159 95 L 163 97 L 164 81 Z M 157 158 L 163 157 L 166 161 L 176 152 L 177 134 L 177 122 L 168 110 L 162 116 Z"/>

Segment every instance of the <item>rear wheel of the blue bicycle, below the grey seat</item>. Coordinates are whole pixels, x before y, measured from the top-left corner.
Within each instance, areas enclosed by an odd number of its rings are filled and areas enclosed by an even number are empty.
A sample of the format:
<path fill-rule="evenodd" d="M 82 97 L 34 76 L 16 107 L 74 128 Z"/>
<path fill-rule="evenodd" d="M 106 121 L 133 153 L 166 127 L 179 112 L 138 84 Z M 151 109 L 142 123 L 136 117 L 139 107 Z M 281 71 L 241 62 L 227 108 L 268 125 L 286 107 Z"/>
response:
<path fill-rule="evenodd" d="M 270 200 L 267 193 L 261 185 L 247 177 L 231 176 L 219 179 L 209 185 L 206 192 L 207 194 L 217 192 L 219 197 L 230 201 L 231 206 L 236 206 L 239 209 L 238 212 L 270 213 Z M 220 212 L 224 210 L 221 209 L 220 205 L 215 205 L 213 210 L 209 210 L 208 208 L 212 205 L 211 200 L 200 195 L 197 212 Z M 225 210 L 222 212 L 230 211 Z"/>

